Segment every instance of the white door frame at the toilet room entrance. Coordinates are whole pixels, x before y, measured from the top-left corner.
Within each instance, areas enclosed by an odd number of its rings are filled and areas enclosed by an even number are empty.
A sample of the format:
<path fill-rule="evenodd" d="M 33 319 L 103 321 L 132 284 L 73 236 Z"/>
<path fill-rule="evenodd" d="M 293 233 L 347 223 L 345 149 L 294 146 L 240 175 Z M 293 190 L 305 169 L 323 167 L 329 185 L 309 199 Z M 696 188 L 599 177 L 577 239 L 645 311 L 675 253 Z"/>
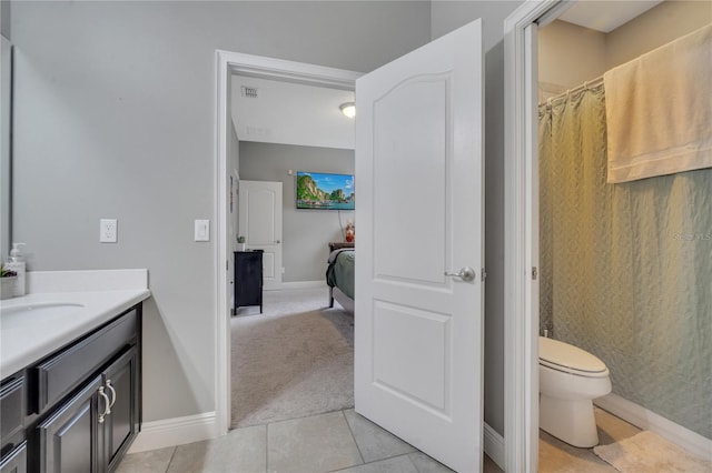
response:
<path fill-rule="evenodd" d="M 530 0 L 504 21 L 504 432 L 506 471 L 538 470 L 536 29 L 575 0 Z"/>

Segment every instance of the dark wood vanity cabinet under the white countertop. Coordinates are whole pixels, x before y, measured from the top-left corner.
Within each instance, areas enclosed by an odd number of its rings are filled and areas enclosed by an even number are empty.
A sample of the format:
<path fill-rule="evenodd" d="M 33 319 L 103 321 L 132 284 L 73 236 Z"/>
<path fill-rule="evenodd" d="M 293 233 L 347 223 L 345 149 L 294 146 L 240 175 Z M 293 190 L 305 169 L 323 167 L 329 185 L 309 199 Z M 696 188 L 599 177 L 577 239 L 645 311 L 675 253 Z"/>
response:
<path fill-rule="evenodd" d="M 8 445 L 22 443 L 2 452 L 0 473 L 117 469 L 141 422 L 140 328 L 139 304 L 24 370 L 24 426 Z"/>

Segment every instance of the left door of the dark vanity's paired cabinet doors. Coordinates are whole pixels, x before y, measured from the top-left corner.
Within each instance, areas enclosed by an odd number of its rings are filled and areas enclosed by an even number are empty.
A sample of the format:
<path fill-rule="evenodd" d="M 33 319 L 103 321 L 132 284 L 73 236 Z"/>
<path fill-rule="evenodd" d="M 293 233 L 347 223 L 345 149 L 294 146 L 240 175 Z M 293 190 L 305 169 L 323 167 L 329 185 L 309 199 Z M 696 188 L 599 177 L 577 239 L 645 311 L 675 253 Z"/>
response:
<path fill-rule="evenodd" d="M 37 427 L 40 473 L 98 472 L 101 435 L 99 412 L 106 409 L 106 396 L 99 396 L 101 376 L 62 404 Z M 100 401 L 101 399 L 101 401 Z M 101 404 L 101 406 L 99 406 Z"/>

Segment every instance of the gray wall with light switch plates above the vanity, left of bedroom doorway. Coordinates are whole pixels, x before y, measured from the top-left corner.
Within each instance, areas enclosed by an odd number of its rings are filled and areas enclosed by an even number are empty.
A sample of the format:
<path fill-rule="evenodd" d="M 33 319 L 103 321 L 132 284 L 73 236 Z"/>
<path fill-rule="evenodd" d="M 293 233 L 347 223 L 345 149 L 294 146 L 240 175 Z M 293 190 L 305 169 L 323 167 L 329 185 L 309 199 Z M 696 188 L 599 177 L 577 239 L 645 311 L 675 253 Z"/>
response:
<path fill-rule="evenodd" d="M 214 209 L 215 50 L 367 72 L 429 21 L 418 1 L 13 2 L 14 239 L 30 270 L 148 268 L 145 421 L 215 410 L 215 248 L 192 241 Z"/>

